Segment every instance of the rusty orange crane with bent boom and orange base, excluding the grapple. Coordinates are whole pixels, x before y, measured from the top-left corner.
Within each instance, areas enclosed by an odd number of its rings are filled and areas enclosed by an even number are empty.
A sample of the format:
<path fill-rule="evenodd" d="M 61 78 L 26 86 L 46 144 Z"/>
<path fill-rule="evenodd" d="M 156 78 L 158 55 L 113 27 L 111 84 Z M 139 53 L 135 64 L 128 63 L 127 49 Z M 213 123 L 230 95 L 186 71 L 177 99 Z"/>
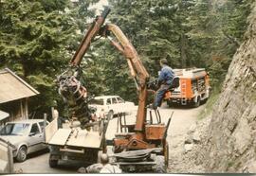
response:
<path fill-rule="evenodd" d="M 167 127 L 161 123 L 161 120 L 157 120 L 156 124 L 146 122 L 147 116 L 147 96 L 148 96 L 148 79 L 149 74 L 144 67 L 143 63 L 138 57 L 137 50 L 130 43 L 119 26 L 114 24 L 106 24 L 103 26 L 106 15 L 110 9 L 105 9 L 101 16 L 98 16 L 93 24 L 87 30 L 82 43 L 79 46 L 76 54 L 71 60 L 71 65 L 79 66 L 82 62 L 82 57 L 88 50 L 90 44 L 93 42 L 96 36 L 105 37 L 110 40 L 119 52 L 124 56 L 128 63 L 128 67 L 131 72 L 131 76 L 135 79 L 138 93 L 138 107 L 136 124 L 130 126 L 130 132 L 114 138 L 113 143 L 115 152 L 121 150 L 145 150 L 161 147 L 166 144 L 164 141 L 166 137 L 163 137 L 163 133 Z M 115 40 L 111 37 L 114 36 Z M 156 112 L 155 115 L 157 116 Z M 150 114 L 152 118 L 152 114 Z M 160 114 L 158 113 L 160 118 Z M 157 118 L 157 117 L 156 117 Z M 120 127 L 123 128 L 123 127 Z M 165 152 L 162 150 L 161 152 Z"/>

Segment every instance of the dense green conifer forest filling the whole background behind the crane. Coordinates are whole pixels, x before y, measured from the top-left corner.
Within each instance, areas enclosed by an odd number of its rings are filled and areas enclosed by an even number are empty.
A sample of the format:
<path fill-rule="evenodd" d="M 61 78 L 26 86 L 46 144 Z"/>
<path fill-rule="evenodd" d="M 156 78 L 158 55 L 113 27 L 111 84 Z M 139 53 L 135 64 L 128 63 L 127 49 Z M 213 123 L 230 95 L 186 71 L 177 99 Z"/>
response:
<path fill-rule="evenodd" d="M 54 80 L 68 66 L 99 0 L 8 0 L 0 2 L 0 67 L 9 67 L 41 95 L 30 111 L 64 106 Z M 173 68 L 204 67 L 213 90 L 225 79 L 243 42 L 252 0 L 108 0 L 108 22 L 135 45 L 152 78 L 166 58 Z M 119 95 L 136 102 L 126 61 L 107 40 L 91 45 L 82 61 L 90 94 Z"/>

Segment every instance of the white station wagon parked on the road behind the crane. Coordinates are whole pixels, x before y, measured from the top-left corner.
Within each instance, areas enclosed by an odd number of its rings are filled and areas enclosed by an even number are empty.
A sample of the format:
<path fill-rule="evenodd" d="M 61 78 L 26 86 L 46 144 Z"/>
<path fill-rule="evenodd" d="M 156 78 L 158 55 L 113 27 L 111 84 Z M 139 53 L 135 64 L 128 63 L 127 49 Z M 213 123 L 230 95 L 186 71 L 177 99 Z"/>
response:
<path fill-rule="evenodd" d="M 96 107 L 98 114 L 108 114 L 116 116 L 118 114 L 132 114 L 135 110 L 135 103 L 124 101 L 119 96 L 94 97 L 90 101 L 90 106 Z"/>

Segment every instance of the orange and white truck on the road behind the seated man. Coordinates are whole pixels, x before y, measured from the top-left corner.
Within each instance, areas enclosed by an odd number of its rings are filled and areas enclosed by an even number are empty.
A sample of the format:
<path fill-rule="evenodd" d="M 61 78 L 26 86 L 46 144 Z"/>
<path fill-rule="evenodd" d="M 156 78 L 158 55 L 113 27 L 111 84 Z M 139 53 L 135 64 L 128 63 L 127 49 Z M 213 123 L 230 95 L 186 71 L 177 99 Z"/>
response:
<path fill-rule="evenodd" d="M 198 107 L 210 96 L 209 74 L 204 68 L 174 69 L 179 78 L 179 87 L 167 92 L 165 100 L 169 106 L 174 103 Z"/>

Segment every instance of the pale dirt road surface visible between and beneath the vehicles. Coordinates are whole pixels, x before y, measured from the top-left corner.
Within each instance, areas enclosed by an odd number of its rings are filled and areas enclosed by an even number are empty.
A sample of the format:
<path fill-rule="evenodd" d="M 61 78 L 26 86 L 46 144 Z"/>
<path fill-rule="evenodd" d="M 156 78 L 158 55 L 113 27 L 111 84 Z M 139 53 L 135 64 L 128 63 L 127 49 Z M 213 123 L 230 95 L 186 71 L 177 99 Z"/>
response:
<path fill-rule="evenodd" d="M 169 172 L 186 172 L 186 166 L 179 166 L 180 154 L 184 152 L 184 138 L 192 124 L 195 123 L 197 115 L 204 109 L 204 107 L 205 106 L 203 105 L 198 108 L 168 108 L 166 105 L 163 105 L 159 109 L 162 116 L 162 122 L 165 123 L 167 123 L 172 112 L 174 112 L 167 137 L 170 152 Z M 127 124 L 136 121 L 135 114 L 136 110 L 133 114 L 127 116 Z M 112 139 L 115 136 L 115 133 L 117 132 L 117 123 L 117 118 L 113 118 L 110 121 L 106 134 L 107 139 Z M 14 169 L 22 169 L 23 173 L 76 173 L 77 169 L 82 167 L 82 163 L 62 161 L 59 167 L 51 168 L 48 166 L 48 157 L 49 153 L 47 151 L 31 154 L 24 163 L 15 163 Z"/>

